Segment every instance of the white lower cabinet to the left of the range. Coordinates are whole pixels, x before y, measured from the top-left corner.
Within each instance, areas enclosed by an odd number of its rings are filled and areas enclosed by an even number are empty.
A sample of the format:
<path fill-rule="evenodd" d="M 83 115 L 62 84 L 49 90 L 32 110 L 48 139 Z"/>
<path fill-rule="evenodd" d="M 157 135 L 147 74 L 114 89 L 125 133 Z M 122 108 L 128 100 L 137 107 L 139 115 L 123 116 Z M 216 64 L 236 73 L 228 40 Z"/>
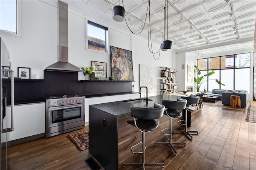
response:
<path fill-rule="evenodd" d="M 14 131 L 10 140 L 45 132 L 45 103 L 14 106 Z"/>

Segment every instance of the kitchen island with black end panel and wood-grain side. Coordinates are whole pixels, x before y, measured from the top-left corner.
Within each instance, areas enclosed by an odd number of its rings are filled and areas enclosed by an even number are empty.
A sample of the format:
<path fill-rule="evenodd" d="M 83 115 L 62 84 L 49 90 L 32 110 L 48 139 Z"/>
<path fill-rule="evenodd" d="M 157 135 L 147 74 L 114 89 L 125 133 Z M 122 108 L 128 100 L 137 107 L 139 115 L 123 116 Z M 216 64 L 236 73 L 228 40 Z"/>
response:
<path fill-rule="evenodd" d="M 130 147 L 142 140 L 137 128 L 127 125 L 130 121 L 130 107 L 154 107 L 154 103 L 162 103 L 162 99 L 176 101 L 179 96 L 157 95 L 148 97 L 146 102 L 134 104 L 129 101 L 117 101 L 89 106 L 89 152 L 106 170 L 122 168 L 122 162 L 129 162 L 135 156 Z M 134 100 L 134 99 L 133 99 Z M 175 120 L 177 121 L 177 119 Z M 146 133 L 146 145 L 154 144 L 156 140 L 165 138 L 160 130 L 169 126 L 169 118 L 163 116 L 159 127 Z M 179 127 L 178 123 L 173 125 Z M 152 137 L 152 135 L 154 137 Z M 157 153 L 156 153 L 157 154 Z M 141 154 L 137 154 L 141 159 Z M 136 156 L 137 156 L 136 155 Z"/>

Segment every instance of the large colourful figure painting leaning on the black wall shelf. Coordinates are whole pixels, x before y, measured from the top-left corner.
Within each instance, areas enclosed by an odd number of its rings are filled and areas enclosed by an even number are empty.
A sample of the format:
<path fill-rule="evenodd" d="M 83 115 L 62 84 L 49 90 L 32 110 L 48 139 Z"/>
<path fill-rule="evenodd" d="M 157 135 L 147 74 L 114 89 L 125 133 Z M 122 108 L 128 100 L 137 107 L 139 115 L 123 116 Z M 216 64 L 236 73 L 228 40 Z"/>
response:
<path fill-rule="evenodd" d="M 132 51 L 110 46 L 110 58 L 113 80 L 134 80 Z"/>

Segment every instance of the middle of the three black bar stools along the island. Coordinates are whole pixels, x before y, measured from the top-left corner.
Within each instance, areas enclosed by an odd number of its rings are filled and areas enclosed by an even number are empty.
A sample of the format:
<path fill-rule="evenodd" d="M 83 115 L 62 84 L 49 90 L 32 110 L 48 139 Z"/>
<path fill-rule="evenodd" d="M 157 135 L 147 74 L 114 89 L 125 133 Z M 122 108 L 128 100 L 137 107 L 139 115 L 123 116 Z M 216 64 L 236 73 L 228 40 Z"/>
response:
<path fill-rule="evenodd" d="M 162 104 L 167 108 L 165 109 L 164 115 L 167 115 L 169 117 L 169 128 L 164 128 L 161 130 L 161 133 L 166 136 L 168 142 L 155 142 L 155 144 L 170 144 L 172 146 L 172 149 L 175 152 L 175 155 L 177 155 L 177 151 L 174 148 L 174 144 L 183 144 L 186 146 L 186 142 L 172 142 L 172 119 L 178 119 L 182 116 L 182 110 L 185 109 L 187 101 L 185 99 L 178 98 L 177 101 L 168 101 L 163 100 Z M 180 111 L 178 111 L 180 110 Z M 163 131 L 168 129 L 169 133 L 165 134 Z M 169 138 L 168 138 L 169 136 Z"/>

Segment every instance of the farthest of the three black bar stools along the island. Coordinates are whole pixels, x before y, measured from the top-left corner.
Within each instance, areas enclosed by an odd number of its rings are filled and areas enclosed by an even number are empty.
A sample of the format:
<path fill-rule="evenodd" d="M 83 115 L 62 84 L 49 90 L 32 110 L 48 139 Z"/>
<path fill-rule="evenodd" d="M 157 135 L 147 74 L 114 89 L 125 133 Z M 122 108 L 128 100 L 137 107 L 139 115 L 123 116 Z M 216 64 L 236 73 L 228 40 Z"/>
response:
<path fill-rule="evenodd" d="M 193 136 L 190 134 L 190 133 L 196 133 L 198 134 L 198 131 L 191 131 L 191 130 L 187 130 L 187 111 L 194 111 L 195 108 L 193 107 L 193 105 L 195 103 L 198 103 L 199 101 L 199 97 L 198 96 L 190 96 L 190 97 L 185 97 L 185 96 L 182 96 L 181 97 L 182 99 L 186 99 L 188 101 L 188 104 L 186 105 L 186 110 L 185 110 L 185 117 L 184 119 L 185 120 L 180 120 L 178 121 L 178 123 L 180 125 L 185 125 L 185 129 L 180 127 L 182 130 L 174 130 L 174 133 L 178 132 L 178 133 L 186 133 L 188 136 L 190 136 L 191 139 L 193 139 Z M 180 122 L 183 122 L 183 123 L 180 123 Z"/>

